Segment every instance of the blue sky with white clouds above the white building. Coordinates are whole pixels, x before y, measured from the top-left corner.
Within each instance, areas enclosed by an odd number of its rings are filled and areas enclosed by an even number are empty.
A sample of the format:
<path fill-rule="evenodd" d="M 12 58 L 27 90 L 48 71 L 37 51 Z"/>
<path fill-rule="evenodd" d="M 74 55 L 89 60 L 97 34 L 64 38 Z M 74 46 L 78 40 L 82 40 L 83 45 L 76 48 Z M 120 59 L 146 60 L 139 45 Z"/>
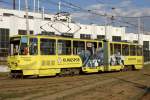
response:
<path fill-rule="evenodd" d="M 0 0 L 0 6 L 4 8 L 12 8 L 13 5 L 12 1 L 13 0 Z M 24 0 L 20 1 L 21 1 L 21 9 L 23 10 L 25 8 Z M 33 10 L 33 1 L 34 0 L 28 0 L 29 8 L 31 11 Z M 45 11 L 49 13 L 57 13 L 59 1 L 62 1 L 61 6 L 62 11 L 71 13 L 75 21 L 86 24 L 89 23 L 104 24 L 105 19 L 102 16 L 85 12 L 83 9 L 91 10 L 92 12 L 97 14 L 107 13 L 109 15 L 114 16 L 125 16 L 125 17 L 150 16 L 150 0 L 40 0 L 40 8 L 44 7 Z M 82 10 L 80 9 L 80 7 Z M 18 8 L 18 0 L 16 0 L 16 8 Z M 115 8 L 115 10 L 112 10 L 112 8 Z M 121 21 L 129 22 L 130 24 L 123 23 Z M 132 19 L 132 18 L 116 17 L 113 22 L 114 25 L 128 26 L 129 31 L 137 30 L 135 26 L 131 25 L 131 24 L 137 25 L 136 18 Z M 108 21 L 108 23 L 111 23 L 111 21 Z M 149 24 L 150 17 L 142 18 L 142 23 L 144 23 L 145 26 L 144 30 L 150 31 L 150 24 Z"/>

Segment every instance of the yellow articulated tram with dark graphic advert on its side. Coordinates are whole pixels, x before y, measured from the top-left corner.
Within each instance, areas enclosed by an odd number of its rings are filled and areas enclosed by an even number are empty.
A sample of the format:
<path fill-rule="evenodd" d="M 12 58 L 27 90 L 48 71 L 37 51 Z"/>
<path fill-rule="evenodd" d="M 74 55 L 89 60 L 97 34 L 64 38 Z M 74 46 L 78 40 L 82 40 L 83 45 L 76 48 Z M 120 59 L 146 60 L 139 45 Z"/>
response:
<path fill-rule="evenodd" d="M 12 77 L 76 75 L 141 69 L 142 46 L 43 35 L 10 38 L 8 66 Z"/>

